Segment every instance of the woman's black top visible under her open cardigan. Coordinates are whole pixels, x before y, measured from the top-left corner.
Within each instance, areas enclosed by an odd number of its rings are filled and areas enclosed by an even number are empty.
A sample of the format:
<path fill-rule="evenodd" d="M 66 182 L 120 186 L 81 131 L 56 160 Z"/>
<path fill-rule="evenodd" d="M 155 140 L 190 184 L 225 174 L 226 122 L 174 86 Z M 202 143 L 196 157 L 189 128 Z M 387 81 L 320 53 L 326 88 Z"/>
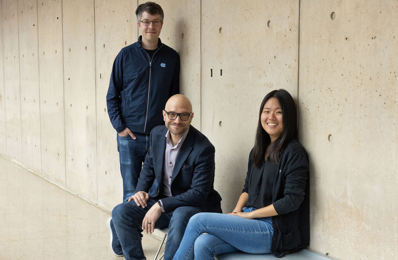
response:
<path fill-rule="evenodd" d="M 250 175 L 250 192 L 246 207 L 260 209 L 272 204 L 272 187 L 277 167 L 271 160 L 266 160 L 261 167 L 253 169 Z"/>

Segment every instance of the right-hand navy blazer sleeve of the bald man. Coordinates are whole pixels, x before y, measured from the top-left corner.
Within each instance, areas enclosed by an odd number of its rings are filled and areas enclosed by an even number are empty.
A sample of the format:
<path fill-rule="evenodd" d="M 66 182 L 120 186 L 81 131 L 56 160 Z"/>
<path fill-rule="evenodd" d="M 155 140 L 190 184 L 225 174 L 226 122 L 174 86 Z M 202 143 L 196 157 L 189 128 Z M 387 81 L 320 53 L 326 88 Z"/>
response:
<path fill-rule="evenodd" d="M 205 203 L 214 179 L 214 154 L 215 148 L 211 144 L 201 149 L 199 154 L 197 154 L 190 189 L 174 197 L 162 199 L 166 214 L 178 207 L 200 206 Z"/>

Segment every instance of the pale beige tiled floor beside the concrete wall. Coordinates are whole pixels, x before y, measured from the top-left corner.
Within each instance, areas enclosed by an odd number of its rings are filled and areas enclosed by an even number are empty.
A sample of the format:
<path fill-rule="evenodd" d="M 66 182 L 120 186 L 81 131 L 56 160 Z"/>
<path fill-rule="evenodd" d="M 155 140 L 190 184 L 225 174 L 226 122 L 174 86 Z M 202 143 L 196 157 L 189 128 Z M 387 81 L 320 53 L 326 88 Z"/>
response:
<path fill-rule="evenodd" d="M 123 260 L 109 250 L 110 215 L 0 156 L 0 259 Z M 154 259 L 160 240 L 142 244 Z"/>

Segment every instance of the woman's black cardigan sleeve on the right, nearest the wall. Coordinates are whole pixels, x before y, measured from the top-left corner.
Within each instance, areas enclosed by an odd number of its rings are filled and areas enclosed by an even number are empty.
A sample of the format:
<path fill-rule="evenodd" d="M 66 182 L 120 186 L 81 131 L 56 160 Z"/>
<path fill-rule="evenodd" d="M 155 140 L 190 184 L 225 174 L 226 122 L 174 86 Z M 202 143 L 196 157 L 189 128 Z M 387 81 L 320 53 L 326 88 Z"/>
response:
<path fill-rule="evenodd" d="M 302 148 L 298 151 L 287 151 L 287 156 L 281 158 L 279 170 L 285 187 L 284 189 L 281 187 L 283 197 L 275 201 L 273 206 L 278 215 L 282 215 L 298 209 L 304 199 L 304 189 L 309 174 L 308 156 L 305 150 Z M 274 190 L 275 192 L 277 191 Z"/>

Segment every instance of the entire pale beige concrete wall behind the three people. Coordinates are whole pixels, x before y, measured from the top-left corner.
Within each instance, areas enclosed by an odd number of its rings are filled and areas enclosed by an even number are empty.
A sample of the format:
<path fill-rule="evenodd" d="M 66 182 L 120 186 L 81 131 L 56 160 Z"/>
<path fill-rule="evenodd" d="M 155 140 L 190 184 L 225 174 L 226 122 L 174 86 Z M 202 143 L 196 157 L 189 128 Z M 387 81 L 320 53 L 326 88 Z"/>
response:
<path fill-rule="evenodd" d="M 109 210 L 122 184 L 105 95 L 142 2 L 0 5 L 0 154 Z M 223 211 L 240 195 L 262 98 L 285 88 L 310 156 L 310 248 L 398 259 L 397 2 L 158 3 L 192 124 L 216 147 Z"/>

